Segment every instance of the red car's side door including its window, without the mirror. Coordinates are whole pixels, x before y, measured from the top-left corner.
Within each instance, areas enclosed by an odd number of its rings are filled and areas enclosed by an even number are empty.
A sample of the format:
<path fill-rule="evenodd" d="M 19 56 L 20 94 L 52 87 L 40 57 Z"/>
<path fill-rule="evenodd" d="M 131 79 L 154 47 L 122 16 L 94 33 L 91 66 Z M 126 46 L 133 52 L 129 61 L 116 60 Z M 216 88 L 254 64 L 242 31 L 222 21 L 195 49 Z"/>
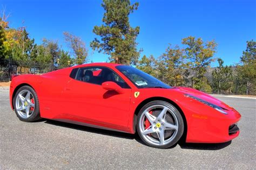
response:
<path fill-rule="evenodd" d="M 114 81 L 123 87 L 124 93 L 103 89 L 104 81 Z M 63 95 L 66 112 L 73 120 L 118 130 L 127 129 L 131 88 L 111 69 L 79 68 L 75 78 L 65 85 Z"/>

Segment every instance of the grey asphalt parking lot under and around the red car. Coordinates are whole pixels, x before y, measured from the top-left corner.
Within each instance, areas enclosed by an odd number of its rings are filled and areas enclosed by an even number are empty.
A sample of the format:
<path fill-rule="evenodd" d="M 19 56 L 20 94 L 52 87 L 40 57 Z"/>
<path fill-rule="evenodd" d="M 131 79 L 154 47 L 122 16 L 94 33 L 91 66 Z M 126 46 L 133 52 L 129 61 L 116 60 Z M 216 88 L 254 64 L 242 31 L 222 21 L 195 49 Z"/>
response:
<path fill-rule="evenodd" d="M 0 89 L 0 169 L 254 169 L 255 99 L 218 97 L 242 115 L 240 135 L 224 144 L 145 146 L 137 135 L 43 120 L 19 121 Z"/>

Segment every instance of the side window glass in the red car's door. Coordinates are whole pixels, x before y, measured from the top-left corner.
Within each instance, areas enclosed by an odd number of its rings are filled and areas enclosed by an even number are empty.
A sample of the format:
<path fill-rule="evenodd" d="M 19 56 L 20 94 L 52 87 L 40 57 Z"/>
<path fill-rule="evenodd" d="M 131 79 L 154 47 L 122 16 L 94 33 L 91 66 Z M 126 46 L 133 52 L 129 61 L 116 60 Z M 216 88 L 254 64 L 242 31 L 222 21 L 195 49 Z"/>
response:
<path fill-rule="evenodd" d="M 87 83 L 102 85 L 105 81 L 113 81 L 124 89 L 130 89 L 130 86 L 117 75 L 111 69 L 106 67 L 82 67 L 79 68 L 76 76 L 76 80 L 84 81 Z"/>

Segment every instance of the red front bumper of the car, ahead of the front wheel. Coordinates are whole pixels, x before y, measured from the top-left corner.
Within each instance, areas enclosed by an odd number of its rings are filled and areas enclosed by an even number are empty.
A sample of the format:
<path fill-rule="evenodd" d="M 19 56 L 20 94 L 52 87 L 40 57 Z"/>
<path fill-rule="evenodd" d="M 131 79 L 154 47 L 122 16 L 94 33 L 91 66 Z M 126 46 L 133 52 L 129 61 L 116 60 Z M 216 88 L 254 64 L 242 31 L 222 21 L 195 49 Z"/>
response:
<path fill-rule="evenodd" d="M 226 111 L 222 114 L 212 111 L 196 117 L 198 113 L 192 113 L 187 123 L 186 142 L 197 143 L 221 143 L 238 137 L 240 130 L 237 126 L 241 115 L 236 111 Z"/>

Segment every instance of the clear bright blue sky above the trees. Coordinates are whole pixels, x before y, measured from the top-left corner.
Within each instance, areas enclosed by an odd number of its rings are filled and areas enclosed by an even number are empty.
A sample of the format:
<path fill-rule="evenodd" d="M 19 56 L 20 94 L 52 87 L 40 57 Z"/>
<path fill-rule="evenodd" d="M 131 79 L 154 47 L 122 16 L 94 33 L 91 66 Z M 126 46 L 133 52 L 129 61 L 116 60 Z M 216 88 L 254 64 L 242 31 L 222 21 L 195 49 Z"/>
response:
<path fill-rule="evenodd" d="M 160 56 L 169 44 L 180 45 L 181 39 L 196 36 L 218 43 L 214 58 L 224 64 L 239 62 L 246 41 L 256 39 L 256 1 L 163 1 L 141 0 L 139 9 L 130 15 L 132 26 L 140 26 L 137 38 L 141 56 Z M 58 40 L 66 49 L 63 32 L 80 36 L 89 48 L 90 60 L 105 62 L 107 55 L 93 52 L 90 42 L 93 26 L 102 24 L 104 10 L 98 0 L 1 0 L 10 13 L 10 26 L 26 26 L 37 44 L 42 38 Z M 217 65 L 213 63 L 212 66 Z"/>

